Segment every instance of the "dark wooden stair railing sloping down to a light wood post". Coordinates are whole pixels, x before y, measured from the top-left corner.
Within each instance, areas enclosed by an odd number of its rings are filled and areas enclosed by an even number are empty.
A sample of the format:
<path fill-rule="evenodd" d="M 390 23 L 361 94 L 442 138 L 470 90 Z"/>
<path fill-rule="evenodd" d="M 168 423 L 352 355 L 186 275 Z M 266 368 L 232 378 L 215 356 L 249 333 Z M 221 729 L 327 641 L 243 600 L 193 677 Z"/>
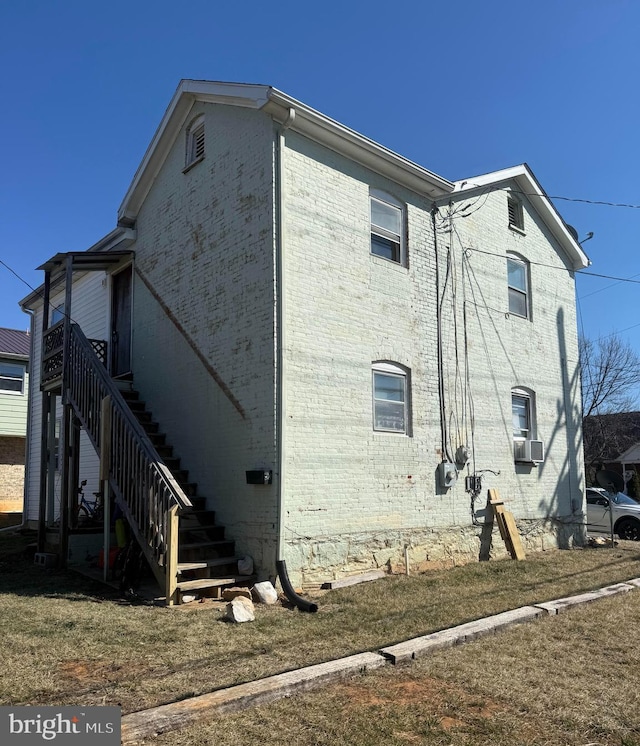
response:
<path fill-rule="evenodd" d="M 172 542 L 170 536 L 176 509 L 191 507 L 191 501 L 158 456 L 77 324 L 70 324 L 66 370 L 64 385 L 69 402 L 98 453 L 102 448 L 102 402 L 109 397 L 109 484 L 158 582 L 165 587 L 167 568 L 177 561 L 172 555 L 177 551 L 175 538 Z"/>

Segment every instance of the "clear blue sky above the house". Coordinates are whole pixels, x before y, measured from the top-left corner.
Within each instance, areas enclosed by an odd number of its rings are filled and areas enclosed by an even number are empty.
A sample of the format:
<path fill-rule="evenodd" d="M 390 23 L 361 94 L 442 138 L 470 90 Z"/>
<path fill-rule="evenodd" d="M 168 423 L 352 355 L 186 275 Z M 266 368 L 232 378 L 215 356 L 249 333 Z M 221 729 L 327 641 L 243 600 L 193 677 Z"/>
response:
<path fill-rule="evenodd" d="M 580 324 L 640 352 L 637 0 L 0 5 L 0 261 L 88 248 L 181 78 L 273 85 L 449 178 L 527 162 L 580 238 Z M 29 288 L 0 265 L 0 326 Z"/>

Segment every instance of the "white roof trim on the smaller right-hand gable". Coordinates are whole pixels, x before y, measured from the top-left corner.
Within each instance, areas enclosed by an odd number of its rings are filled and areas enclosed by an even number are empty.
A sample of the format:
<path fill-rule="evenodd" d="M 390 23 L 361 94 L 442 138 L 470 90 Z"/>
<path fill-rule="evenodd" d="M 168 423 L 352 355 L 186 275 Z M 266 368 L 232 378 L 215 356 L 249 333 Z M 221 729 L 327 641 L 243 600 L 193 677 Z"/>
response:
<path fill-rule="evenodd" d="M 544 189 L 526 163 L 520 166 L 505 168 L 501 171 L 492 171 L 481 176 L 456 181 L 454 193 L 476 192 L 486 187 L 498 188 L 500 184 L 508 181 L 515 181 L 520 191 L 535 207 L 554 238 L 562 246 L 564 251 L 566 251 L 573 264 L 573 269 L 580 270 L 588 267 L 591 264 L 589 257 L 584 253 L 582 247 L 571 233 L 569 233 L 567 225 L 560 216 L 560 213 L 547 197 Z"/>

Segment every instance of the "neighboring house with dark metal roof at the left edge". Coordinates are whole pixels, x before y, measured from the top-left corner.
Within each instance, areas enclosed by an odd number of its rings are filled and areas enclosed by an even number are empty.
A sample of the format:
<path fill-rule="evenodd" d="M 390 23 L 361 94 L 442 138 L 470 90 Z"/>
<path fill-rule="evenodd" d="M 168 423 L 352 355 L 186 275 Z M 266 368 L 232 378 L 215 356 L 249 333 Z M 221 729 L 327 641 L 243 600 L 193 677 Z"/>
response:
<path fill-rule="evenodd" d="M 22 512 L 30 347 L 27 332 L 0 327 L 0 513 Z"/>

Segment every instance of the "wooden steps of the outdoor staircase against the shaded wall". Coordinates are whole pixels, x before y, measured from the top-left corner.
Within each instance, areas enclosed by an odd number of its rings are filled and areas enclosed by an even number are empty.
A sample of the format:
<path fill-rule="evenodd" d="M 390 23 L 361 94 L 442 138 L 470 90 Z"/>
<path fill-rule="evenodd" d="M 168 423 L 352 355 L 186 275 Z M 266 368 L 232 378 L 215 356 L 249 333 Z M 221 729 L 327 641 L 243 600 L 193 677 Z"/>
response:
<path fill-rule="evenodd" d="M 235 555 L 234 541 L 225 538 L 224 526 L 216 523 L 213 510 L 207 510 L 206 498 L 198 495 L 197 483 L 189 481 L 189 472 L 182 468 L 180 458 L 174 455 L 173 446 L 167 443 L 166 435 L 160 432 L 139 393 L 127 388 L 121 389 L 121 394 L 191 502 L 191 507 L 178 510 L 177 603 L 182 603 L 185 594 L 215 598 L 225 587 L 252 583 L 254 575 L 238 573 L 238 561 L 242 558 Z"/>

